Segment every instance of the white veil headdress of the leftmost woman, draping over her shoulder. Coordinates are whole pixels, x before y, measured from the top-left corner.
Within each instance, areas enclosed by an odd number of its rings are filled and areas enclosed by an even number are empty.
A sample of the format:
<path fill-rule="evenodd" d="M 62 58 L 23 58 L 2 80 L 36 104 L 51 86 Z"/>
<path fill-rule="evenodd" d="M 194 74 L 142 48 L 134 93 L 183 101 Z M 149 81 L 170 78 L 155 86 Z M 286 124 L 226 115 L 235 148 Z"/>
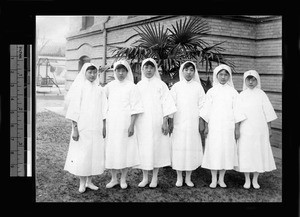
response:
<path fill-rule="evenodd" d="M 70 101 L 74 97 L 80 97 L 81 96 L 82 87 L 84 85 L 84 82 L 87 80 L 86 77 L 85 77 L 85 72 L 86 72 L 86 69 L 89 66 L 95 66 L 95 65 L 92 64 L 92 63 L 84 63 L 81 70 L 80 70 L 80 72 L 78 73 L 75 80 L 71 84 L 70 89 L 69 89 L 67 95 L 65 96 L 65 101 L 64 101 L 64 111 L 65 112 L 68 110 Z M 95 81 L 93 81 L 93 83 L 99 84 L 98 75 L 97 75 Z"/>

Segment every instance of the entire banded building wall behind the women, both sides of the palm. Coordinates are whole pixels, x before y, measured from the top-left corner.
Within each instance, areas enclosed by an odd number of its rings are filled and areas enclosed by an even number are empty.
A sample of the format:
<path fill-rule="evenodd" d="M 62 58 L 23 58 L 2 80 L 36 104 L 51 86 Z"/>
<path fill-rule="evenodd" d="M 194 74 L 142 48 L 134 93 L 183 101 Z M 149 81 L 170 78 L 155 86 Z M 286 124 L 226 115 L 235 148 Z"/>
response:
<path fill-rule="evenodd" d="M 74 18 L 72 28 L 77 29 L 69 36 L 66 49 L 66 78 L 68 84 L 78 73 L 78 60 L 88 56 L 100 66 L 112 64 L 114 58 L 107 47 L 130 46 L 138 39 L 135 27 L 144 23 L 161 23 L 171 27 L 185 16 L 95 16 L 95 23 L 86 30 L 80 29 L 80 19 Z M 202 16 L 210 26 L 210 33 L 204 39 L 212 44 L 225 41 L 222 47 L 224 56 L 233 61 L 236 73 L 233 81 L 236 89 L 242 89 L 243 73 L 255 69 L 261 76 L 262 89 L 267 93 L 278 119 L 272 124 L 271 144 L 282 147 L 282 17 L 281 16 Z M 103 32 L 105 23 L 107 35 Z M 74 25 L 73 25 L 74 24 Z M 77 24 L 77 26 L 75 25 Z M 107 50 L 106 50 L 107 49 Z M 106 53 L 105 57 L 103 53 Z M 216 65 L 213 65 L 213 68 Z M 199 66 L 203 79 L 212 77 L 205 67 Z M 106 74 L 106 78 L 112 72 Z M 68 86 L 68 85 L 66 85 Z"/>

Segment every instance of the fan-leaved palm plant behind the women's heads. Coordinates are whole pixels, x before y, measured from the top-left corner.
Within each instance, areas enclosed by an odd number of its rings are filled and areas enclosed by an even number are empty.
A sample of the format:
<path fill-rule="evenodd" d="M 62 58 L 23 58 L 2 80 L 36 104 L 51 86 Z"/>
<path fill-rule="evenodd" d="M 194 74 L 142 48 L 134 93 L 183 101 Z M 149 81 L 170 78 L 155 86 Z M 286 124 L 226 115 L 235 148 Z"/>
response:
<path fill-rule="evenodd" d="M 220 45 L 224 42 L 210 46 L 203 40 L 210 28 L 199 17 L 180 19 L 172 28 L 165 29 L 160 23 L 148 23 L 134 30 L 140 38 L 131 47 L 110 47 L 112 57 L 126 57 L 131 63 L 141 63 L 143 59 L 151 57 L 161 68 L 162 79 L 167 84 L 178 80 L 180 64 L 186 60 L 195 61 L 202 66 L 205 64 L 206 73 L 212 71 L 212 62 L 228 64 L 234 70 L 234 64 L 222 55 L 225 49 Z M 202 79 L 201 81 L 207 91 L 211 87 L 209 77 L 207 83 Z"/>

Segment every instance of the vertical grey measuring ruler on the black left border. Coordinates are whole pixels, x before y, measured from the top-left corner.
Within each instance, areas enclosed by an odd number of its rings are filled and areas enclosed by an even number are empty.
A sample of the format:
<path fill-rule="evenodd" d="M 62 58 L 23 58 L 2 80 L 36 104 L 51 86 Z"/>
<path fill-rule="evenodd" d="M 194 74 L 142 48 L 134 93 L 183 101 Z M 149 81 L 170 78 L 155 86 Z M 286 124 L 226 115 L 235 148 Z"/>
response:
<path fill-rule="evenodd" d="M 28 49 L 26 48 L 24 45 L 10 46 L 10 176 L 26 176 L 26 171 L 28 170 L 26 162 L 29 159 L 26 152 L 28 145 L 31 146 L 31 143 L 28 143 L 27 136 L 28 128 L 31 125 L 28 126 L 25 123 L 30 122 L 31 116 L 28 118 L 28 107 L 30 108 L 31 103 L 30 97 L 29 102 L 25 98 L 26 96 L 28 97 L 27 89 L 30 87 L 30 84 L 28 85 L 28 77 L 30 77 L 31 70 L 28 70 L 30 60 L 28 58 Z"/>

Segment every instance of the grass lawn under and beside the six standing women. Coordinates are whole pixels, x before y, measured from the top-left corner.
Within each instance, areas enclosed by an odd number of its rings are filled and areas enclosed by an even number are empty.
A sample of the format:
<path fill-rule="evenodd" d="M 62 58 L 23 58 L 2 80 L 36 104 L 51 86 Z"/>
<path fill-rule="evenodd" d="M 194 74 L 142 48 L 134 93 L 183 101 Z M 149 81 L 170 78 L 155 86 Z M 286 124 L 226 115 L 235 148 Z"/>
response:
<path fill-rule="evenodd" d="M 226 189 L 210 189 L 210 171 L 201 167 L 192 174 L 195 187 L 178 188 L 176 171 L 165 167 L 159 171 L 155 189 L 139 188 L 142 172 L 131 169 L 127 189 L 106 189 L 110 174 L 105 171 L 93 178 L 99 190 L 80 194 L 78 178 L 63 170 L 70 132 L 71 123 L 64 117 L 48 111 L 37 113 L 36 202 L 282 202 L 281 162 L 276 162 L 277 170 L 259 176 L 259 190 L 243 189 L 244 175 L 236 171 L 226 172 Z"/>

